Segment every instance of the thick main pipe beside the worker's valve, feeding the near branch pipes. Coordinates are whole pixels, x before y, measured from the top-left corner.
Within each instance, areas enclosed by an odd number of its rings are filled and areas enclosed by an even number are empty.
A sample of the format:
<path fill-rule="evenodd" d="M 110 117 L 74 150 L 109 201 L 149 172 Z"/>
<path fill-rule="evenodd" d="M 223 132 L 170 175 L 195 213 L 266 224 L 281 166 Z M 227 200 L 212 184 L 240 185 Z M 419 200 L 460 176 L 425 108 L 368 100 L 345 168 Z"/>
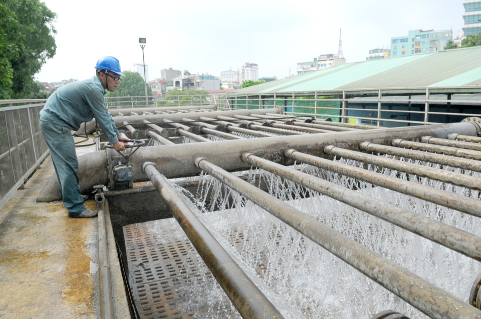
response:
<path fill-rule="evenodd" d="M 252 111 L 252 110 L 250 110 Z M 215 113 L 214 112 L 211 112 Z M 197 114 L 200 114 L 198 112 Z M 139 116 L 141 117 L 141 116 Z M 240 154 L 250 151 L 261 157 L 288 164 L 291 161 L 284 156 L 284 149 L 295 148 L 304 153 L 316 156 L 326 156 L 325 145 L 359 150 L 359 143 L 370 140 L 373 143 L 387 144 L 391 138 L 403 137 L 416 139 L 421 135 L 445 138 L 447 134 L 457 132 L 464 135 L 476 133 L 476 127 L 471 122 L 419 125 L 414 127 L 397 127 L 369 129 L 355 132 L 334 132 L 323 134 L 302 134 L 292 136 L 276 136 L 269 138 L 245 138 L 204 143 L 188 143 L 175 145 L 159 145 L 140 147 L 131 157 L 133 182 L 146 181 L 147 176 L 141 169 L 145 161 L 157 164 L 159 170 L 167 178 L 192 176 L 200 173 L 195 166 L 196 157 L 208 158 L 212 163 L 222 168 L 235 171 L 249 169 L 249 165 L 240 159 Z M 164 148 L 169 147 L 169 148 Z M 407 151 L 408 149 L 403 149 Z M 435 155 L 435 154 L 430 154 Z M 79 156 L 79 180 L 82 193 L 90 191 L 94 185 L 108 184 L 107 156 L 105 150 L 98 150 Z M 466 160 L 466 159 L 463 159 Z M 479 165 L 478 161 L 477 162 Z M 57 178 L 53 174 L 46 182 L 37 198 L 38 201 L 60 199 Z"/>

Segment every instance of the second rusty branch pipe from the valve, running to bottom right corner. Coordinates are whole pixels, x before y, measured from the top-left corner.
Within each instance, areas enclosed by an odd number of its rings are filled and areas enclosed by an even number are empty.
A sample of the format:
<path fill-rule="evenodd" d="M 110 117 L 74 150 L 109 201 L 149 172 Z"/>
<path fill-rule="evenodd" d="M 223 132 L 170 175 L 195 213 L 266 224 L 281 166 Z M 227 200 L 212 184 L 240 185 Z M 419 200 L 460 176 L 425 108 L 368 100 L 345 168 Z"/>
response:
<path fill-rule="evenodd" d="M 205 158 L 197 158 L 196 164 L 426 315 L 439 319 L 481 318 L 481 310 Z"/>

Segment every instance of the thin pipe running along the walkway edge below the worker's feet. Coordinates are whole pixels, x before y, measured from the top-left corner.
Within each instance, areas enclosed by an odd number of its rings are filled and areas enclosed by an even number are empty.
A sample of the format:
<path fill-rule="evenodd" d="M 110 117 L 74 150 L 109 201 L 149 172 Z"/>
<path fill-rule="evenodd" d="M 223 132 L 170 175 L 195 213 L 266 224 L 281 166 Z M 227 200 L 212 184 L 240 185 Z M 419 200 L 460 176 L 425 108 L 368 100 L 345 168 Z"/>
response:
<path fill-rule="evenodd" d="M 96 197 L 97 199 L 97 197 Z M 99 231 L 99 282 L 100 282 L 100 317 L 114 319 L 112 301 L 112 284 L 110 282 L 109 249 L 107 246 L 107 228 L 105 226 L 104 200 L 97 200 Z"/>

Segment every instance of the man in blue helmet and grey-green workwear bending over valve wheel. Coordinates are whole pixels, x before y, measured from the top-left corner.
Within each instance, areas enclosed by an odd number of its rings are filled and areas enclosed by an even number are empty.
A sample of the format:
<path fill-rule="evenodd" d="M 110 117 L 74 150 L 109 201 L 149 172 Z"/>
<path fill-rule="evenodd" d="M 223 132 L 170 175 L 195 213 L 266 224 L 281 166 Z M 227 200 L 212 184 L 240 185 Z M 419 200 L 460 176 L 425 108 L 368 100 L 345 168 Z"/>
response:
<path fill-rule="evenodd" d="M 95 117 L 103 133 L 118 152 L 125 150 L 129 138 L 120 135 L 112 114 L 104 102 L 107 90 L 114 91 L 124 76 L 119 60 L 113 56 L 100 58 L 96 75 L 59 87 L 40 111 L 40 128 L 54 163 L 60 195 L 69 217 L 95 217 L 97 211 L 84 206 L 80 194 L 79 161 L 71 130 Z"/>

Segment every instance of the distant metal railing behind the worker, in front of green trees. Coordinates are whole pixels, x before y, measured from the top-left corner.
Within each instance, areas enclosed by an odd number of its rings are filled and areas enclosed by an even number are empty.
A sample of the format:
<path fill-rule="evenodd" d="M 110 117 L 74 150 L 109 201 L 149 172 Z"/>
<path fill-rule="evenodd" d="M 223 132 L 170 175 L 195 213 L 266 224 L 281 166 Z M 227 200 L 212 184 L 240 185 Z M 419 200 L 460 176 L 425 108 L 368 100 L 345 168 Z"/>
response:
<path fill-rule="evenodd" d="M 148 96 L 110 96 L 105 97 L 108 108 L 162 107 L 162 106 L 203 106 L 216 105 L 228 108 L 225 94 L 160 95 Z"/>

